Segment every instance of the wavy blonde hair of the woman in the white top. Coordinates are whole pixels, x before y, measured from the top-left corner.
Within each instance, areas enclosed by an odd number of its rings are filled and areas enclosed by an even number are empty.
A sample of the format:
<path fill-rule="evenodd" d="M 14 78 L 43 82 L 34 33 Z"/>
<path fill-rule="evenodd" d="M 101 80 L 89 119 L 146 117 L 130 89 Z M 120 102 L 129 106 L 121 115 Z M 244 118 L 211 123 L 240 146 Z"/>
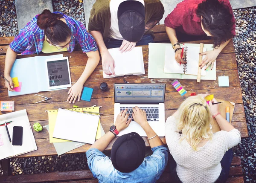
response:
<path fill-rule="evenodd" d="M 187 98 L 178 108 L 177 129 L 182 131 L 183 137 L 180 142 L 186 139 L 191 147 L 198 151 L 198 144 L 201 140 L 212 140 L 212 114 L 206 100 L 201 96 Z"/>

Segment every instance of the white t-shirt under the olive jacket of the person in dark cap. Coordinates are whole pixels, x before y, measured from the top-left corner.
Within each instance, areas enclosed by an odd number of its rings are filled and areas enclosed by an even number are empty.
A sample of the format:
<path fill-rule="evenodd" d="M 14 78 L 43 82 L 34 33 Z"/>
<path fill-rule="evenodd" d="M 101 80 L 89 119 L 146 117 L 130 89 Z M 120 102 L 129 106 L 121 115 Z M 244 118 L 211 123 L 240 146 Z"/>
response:
<path fill-rule="evenodd" d="M 108 37 L 118 40 L 123 40 L 122 35 L 119 32 L 118 28 L 118 19 L 117 19 L 117 10 L 119 5 L 126 0 L 111 0 L 109 4 L 110 13 L 111 13 L 111 26 L 109 29 Z M 137 0 L 144 5 L 144 0 Z"/>

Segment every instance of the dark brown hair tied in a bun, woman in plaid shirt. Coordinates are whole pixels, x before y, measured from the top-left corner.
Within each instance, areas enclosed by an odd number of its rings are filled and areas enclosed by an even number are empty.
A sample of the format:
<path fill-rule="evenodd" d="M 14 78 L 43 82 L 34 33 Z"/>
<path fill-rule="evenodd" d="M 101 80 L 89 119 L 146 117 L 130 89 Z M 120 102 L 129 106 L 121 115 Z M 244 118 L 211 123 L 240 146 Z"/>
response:
<path fill-rule="evenodd" d="M 66 23 L 59 20 L 61 14 L 55 14 L 45 9 L 39 16 L 37 24 L 40 29 L 44 29 L 44 33 L 52 44 L 60 44 L 70 37 L 71 30 Z"/>

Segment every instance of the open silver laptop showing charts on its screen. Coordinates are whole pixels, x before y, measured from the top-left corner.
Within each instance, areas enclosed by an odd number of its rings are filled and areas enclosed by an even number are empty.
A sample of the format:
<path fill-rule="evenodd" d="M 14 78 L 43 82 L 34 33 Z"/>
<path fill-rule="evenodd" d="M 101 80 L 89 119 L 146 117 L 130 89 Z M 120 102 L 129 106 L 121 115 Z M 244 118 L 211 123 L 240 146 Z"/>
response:
<path fill-rule="evenodd" d="M 159 137 L 165 136 L 165 98 L 166 84 L 162 83 L 114 83 L 114 120 L 121 110 L 128 109 L 130 125 L 118 136 L 136 132 L 147 137 L 145 131 L 132 118 L 132 107 L 138 106 L 146 111 L 147 121 Z"/>

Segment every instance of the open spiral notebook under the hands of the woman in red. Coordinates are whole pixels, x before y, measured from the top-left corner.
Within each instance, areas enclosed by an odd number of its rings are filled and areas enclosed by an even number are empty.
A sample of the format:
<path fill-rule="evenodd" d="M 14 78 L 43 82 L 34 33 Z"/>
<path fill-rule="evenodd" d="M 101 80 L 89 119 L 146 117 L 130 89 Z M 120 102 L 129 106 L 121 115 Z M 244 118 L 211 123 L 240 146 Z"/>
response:
<path fill-rule="evenodd" d="M 184 47 L 184 61 L 186 64 L 179 64 L 175 60 L 175 52 L 172 46 L 166 45 L 165 49 L 165 61 L 164 61 L 164 73 L 175 73 L 175 74 L 188 74 L 195 75 L 198 74 L 198 61 L 199 61 L 199 47 L 195 46 L 185 46 Z M 204 48 L 204 52 L 207 49 Z M 205 55 L 203 56 L 204 59 Z M 206 71 L 204 68 L 201 70 L 201 76 L 206 76 Z"/>

